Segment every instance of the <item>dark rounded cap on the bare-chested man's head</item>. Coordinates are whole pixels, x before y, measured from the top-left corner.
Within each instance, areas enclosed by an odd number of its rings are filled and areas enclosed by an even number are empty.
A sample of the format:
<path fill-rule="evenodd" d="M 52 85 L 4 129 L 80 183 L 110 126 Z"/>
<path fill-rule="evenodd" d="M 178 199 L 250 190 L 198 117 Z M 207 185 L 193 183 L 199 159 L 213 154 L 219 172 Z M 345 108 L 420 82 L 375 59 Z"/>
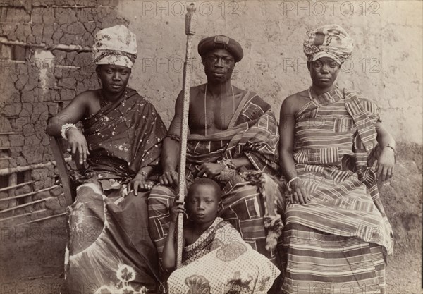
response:
<path fill-rule="evenodd" d="M 243 48 L 241 47 L 240 43 L 236 42 L 230 37 L 223 35 L 207 37 L 198 43 L 198 54 L 200 54 L 202 57 L 204 57 L 207 52 L 213 49 L 228 50 L 228 52 L 232 54 L 233 59 L 235 59 L 235 62 L 240 61 L 244 56 Z"/>

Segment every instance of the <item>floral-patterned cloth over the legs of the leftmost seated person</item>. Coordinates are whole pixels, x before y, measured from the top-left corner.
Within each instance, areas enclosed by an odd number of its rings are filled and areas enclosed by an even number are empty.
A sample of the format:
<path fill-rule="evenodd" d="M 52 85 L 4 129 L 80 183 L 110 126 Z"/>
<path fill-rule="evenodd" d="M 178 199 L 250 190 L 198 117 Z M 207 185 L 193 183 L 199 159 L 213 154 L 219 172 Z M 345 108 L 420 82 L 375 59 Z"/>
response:
<path fill-rule="evenodd" d="M 103 190 L 91 180 L 68 207 L 61 294 L 157 293 L 157 252 L 147 227 L 148 192 Z"/>

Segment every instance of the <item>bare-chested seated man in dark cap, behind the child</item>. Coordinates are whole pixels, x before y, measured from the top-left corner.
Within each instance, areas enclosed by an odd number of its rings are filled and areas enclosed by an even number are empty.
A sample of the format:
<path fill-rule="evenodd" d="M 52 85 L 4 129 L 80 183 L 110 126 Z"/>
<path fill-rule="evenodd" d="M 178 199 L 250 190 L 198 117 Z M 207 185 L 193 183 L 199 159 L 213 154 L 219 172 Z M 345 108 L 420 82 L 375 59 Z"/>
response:
<path fill-rule="evenodd" d="M 223 188 L 219 216 L 230 221 L 245 242 L 274 261 L 281 233 L 275 205 L 281 202 L 281 194 L 270 177 L 278 174 L 274 114 L 257 94 L 231 85 L 235 63 L 243 58 L 238 42 L 222 35 L 207 37 L 198 44 L 198 52 L 207 83 L 190 89 L 187 183 L 197 177 L 217 180 Z M 169 209 L 176 197 L 182 106 L 181 92 L 161 153 L 162 185 L 154 187 L 149 196 L 149 228 L 159 257 L 168 233 Z M 264 219 L 277 231 L 270 234 L 273 240 L 269 240 L 267 249 Z"/>

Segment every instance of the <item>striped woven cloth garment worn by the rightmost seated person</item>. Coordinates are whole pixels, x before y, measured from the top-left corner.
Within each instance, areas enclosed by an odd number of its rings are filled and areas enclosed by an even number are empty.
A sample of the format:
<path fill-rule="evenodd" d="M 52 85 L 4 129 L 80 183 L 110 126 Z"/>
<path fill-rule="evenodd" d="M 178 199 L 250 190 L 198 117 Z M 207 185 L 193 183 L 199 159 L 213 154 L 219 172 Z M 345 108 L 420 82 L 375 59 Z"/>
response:
<path fill-rule="evenodd" d="M 384 292 L 393 233 L 370 168 L 379 120 L 374 102 L 338 88 L 296 114 L 293 157 L 311 201 L 286 205 L 283 293 L 317 283 Z"/>

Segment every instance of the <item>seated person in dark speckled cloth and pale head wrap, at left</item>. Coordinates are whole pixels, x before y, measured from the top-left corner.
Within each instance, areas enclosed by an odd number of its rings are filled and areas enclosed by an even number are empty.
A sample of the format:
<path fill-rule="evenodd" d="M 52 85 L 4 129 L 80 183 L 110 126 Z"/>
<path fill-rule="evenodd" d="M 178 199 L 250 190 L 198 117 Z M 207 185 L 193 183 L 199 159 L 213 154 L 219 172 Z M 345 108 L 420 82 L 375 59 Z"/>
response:
<path fill-rule="evenodd" d="M 75 203 L 68 207 L 63 290 L 156 293 L 147 192 L 138 189 L 149 188 L 166 127 L 154 106 L 126 87 L 137 56 L 132 32 L 123 25 L 100 30 L 93 55 L 102 89 L 78 94 L 47 127 L 49 135 L 68 140 L 80 164 L 86 161 Z M 78 121 L 82 131 L 74 125 Z"/>

